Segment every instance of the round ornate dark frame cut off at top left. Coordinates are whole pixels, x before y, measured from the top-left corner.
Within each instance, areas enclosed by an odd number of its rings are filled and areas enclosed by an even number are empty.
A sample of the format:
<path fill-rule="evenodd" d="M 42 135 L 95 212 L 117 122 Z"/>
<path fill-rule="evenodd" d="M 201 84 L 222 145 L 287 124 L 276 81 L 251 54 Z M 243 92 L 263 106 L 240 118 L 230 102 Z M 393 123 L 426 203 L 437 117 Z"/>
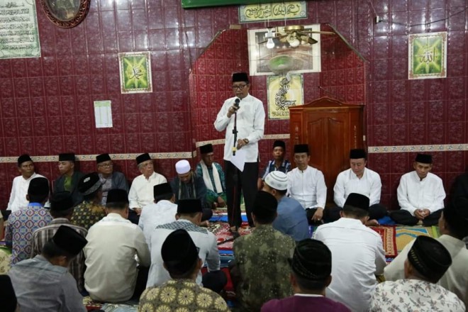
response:
<path fill-rule="evenodd" d="M 72 28 L 86 17 L 91 0 L 40 0 L 45 15 L 55 25 Z"/>

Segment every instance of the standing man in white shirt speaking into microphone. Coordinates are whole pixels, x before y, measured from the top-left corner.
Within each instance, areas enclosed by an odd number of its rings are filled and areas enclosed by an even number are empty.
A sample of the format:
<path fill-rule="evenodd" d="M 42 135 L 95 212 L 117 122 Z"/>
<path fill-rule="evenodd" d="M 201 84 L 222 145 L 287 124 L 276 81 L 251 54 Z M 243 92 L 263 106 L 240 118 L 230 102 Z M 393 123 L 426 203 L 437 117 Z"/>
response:
<path fill-rule="evenodd" d="M 263 137 L 265 112 L 262 101 L 251 96 L 249 89 L 247 74 L 245 72 L 234 73 L 235 96 L 224 101 L 214 123 L 216 130 L 220 132 L 226 130 L 224 171 L 231 231 L 237 231 L 242 223 L 240 218 L 241 191 L 249 225 L 254 226 L 251 213 L 255 194 L 257 194 L 258 141 Z M 236 150 L 240 149 L 245 150 L 245 165 L 242 172 L 231 162 Z"/>

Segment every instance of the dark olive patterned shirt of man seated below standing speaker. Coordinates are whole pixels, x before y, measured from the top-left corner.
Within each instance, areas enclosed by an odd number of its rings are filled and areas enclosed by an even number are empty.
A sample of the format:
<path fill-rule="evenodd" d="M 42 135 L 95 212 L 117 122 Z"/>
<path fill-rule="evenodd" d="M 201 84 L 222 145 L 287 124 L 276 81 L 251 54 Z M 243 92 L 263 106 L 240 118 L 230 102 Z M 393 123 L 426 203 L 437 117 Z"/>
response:
<path fill-rule="evenodd" d="M 234 240 L 233 251 L 242 281 L 236 289 L 242 311 L 260 311 L 270 299 L 292 295 L 288 259 L 294 240 L 274 230 L 272 225 L 257 225 L 252 234 Z"/>

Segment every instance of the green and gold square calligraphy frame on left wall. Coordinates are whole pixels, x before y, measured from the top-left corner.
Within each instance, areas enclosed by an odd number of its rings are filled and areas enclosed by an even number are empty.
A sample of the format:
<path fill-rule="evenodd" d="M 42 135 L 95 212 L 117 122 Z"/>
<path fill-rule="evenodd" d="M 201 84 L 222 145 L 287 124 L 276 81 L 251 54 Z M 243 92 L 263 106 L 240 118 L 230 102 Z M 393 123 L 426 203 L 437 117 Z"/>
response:
<path fill-rule="evenodd" d="M 150 52 L 118 53 L 121 72 L 121 92 L 152 92 Z"/>

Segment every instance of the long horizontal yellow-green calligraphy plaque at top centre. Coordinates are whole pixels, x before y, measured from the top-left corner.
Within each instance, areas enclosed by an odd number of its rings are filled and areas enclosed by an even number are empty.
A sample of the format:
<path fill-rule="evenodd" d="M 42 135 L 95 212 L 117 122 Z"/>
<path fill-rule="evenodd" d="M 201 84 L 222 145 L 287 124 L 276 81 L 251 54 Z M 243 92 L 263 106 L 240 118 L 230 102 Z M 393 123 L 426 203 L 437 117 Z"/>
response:
<path fill-rule="evenodd" d="M 284 21 L 301 18 L 307 18 L 306 1 L 239 6 L 239 23 Z"/>

